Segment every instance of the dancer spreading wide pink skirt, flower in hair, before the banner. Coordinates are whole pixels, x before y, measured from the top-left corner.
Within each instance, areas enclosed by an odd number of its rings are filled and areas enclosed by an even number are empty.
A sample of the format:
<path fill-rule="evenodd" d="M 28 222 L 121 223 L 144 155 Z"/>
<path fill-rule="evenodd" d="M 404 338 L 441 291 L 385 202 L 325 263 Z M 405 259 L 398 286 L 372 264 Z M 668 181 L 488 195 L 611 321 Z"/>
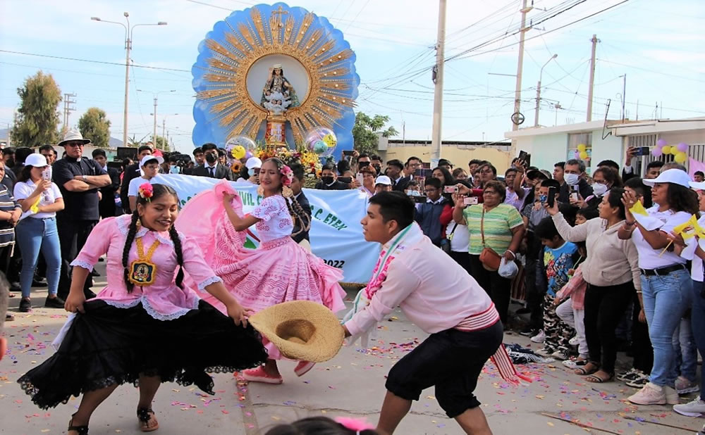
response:
<path fill-rule="evenodd" d="M 345 291 L 338 284 L 343 274 L 308 253 L 291 239 L 293 220 L 308 229 L 310 220 L 293 198 L 289 184 L 293 172 L 278 158 L 270 158 L 259 171 L 258 193 L 262 203 L 250 215 L 241 216 L 233 206 L 235 195 L 223 194 L 227 220 L 216 225 L 216 247 L 213 269 L 228 290 L 245 307 L 255 312 L 286 301 L 315 301 L 333 312 L 345 308 Z M 222 227 L 219 227 L 222 225 Z M 255 225 L 261 239 L 259 248 L 242 249 L 242 232 Z M 239 234 L 238 234 L 239 233 Z M 214 302 L 216 307 L 220 305 Z M 281 384 L 276 366 L 281 353 L 264 339 L 269 360 L 256 369 L 245 370 L 243 377 L 251 382 Z M 313 363 L 300 361 L 295 373 L 302 376 Z"/>

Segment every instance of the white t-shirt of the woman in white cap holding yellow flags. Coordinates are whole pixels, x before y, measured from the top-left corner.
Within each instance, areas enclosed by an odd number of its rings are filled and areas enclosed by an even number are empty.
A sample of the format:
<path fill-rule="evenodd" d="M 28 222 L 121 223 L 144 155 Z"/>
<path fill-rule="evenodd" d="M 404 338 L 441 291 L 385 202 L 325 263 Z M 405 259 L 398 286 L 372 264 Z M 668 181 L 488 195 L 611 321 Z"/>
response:
<path fill-rule="evenodd" d="M 649 216 L 656 217 L 662 222 L 664 222 L 663 227 L 659 228 L 660 231 L 670 234 L 674 227 L 683 222 L 687 222 L 692 215 L 689 215 L 685 211 L 673 212 L 673 210 L 658 211 L 658 206 L 653 206 L 646 210 L 649 212 Z M 637 252 L 639 253 L 639 268 L 640 269 L 658 269 L 661 267 L 668 267 L 676 264 L 685 264 L 685 258 L 682 258 L 677 253 L 673 251 L 663 251 L 661 249 L 651 248 L 649 242 L 644 240 L 642 232 L 639 229 L 635 229 L 632 233 L 632 240 L 635 246 L 637 246 Z"/>

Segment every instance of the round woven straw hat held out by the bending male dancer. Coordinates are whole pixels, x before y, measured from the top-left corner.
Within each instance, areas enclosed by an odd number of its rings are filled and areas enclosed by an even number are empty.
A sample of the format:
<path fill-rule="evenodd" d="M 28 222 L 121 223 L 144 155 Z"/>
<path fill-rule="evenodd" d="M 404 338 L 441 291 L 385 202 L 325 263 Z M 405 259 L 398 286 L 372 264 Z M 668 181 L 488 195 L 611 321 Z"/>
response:
<path fill-rule="evenodd" d="M 323 363 L 336 356 L 345 338 L 338 317 L 313 301 L 278 303 L 249 322 L 291 360 Z"/>

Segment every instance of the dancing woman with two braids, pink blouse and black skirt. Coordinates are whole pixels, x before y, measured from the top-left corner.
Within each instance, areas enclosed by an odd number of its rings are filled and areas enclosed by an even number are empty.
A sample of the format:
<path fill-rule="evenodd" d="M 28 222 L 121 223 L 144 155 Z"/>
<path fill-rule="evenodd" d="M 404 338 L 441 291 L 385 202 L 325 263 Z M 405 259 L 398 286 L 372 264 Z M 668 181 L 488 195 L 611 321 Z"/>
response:
<path fill-rule="evenodd" d="M 43 409 L 82 393 L 71 435 L 88 433 L 93 411 L 120 384 L 139 386 L 137 421 L 142 431 L 153 431 L 159 423 L 152 401 L 161 382 L 196 384 L 213 394 L 207 372 L 234 372 L 266 360 L 259 334 L 247 325 L 250 312 L 228 293 L 197 244 L 175 229 L 177 214 L 176 191 L 142 184 L 135 212 L 102 220 L 71 263 L 65 308 L 76 314 L 56 340 L 58 351 L 18 380 Z M 104 254 L 108 285 L 86 301 L 83 284 Z M 184 270 L 228 315 L 183 286 Z"/>

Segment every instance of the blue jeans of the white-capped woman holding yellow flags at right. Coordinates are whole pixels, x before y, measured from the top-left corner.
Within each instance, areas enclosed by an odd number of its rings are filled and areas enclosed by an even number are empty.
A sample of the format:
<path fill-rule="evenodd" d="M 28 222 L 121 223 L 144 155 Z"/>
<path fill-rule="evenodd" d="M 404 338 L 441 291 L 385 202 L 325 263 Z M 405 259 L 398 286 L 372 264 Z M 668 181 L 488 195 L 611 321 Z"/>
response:
<path fill-rule="evenodd" d="M 654 347 L 654 367 L 649 378 L 652 384 L 675 386 L 673 332 L 690 308 L 692 287 L 692 279 L 685 269 L 662 276 L 642 275 L 644 314 Z"/>

